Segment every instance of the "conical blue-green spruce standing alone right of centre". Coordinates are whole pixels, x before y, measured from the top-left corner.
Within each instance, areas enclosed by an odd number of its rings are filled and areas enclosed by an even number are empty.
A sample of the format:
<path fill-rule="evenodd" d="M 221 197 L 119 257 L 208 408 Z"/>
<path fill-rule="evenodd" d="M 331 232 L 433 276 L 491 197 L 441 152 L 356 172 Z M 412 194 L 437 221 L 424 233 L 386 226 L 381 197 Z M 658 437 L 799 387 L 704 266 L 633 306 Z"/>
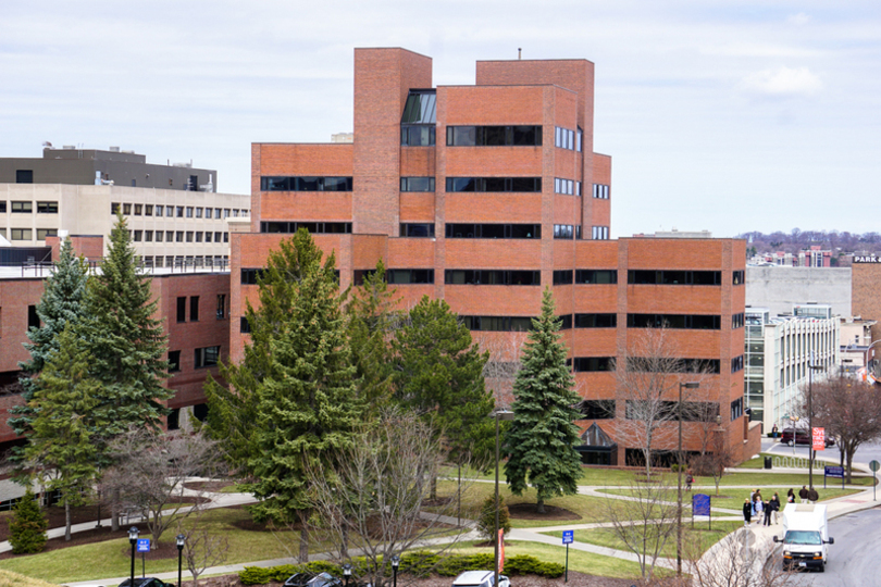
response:
<path fill-rule="evenodd" d="M 578 492 L 581 458 L 574 449 L 579 429 L 573 421 L 579 413 L 573 405 L 580 398 L 566 366 L 549 288 L 542 298 L 542 315 L 532 325 L 513 384 L 514 419 L 505 434 L 505 475 L 516 496 L 532 485 L 538 492 L 537 511 L 544 513 L 545 500 Z"/>

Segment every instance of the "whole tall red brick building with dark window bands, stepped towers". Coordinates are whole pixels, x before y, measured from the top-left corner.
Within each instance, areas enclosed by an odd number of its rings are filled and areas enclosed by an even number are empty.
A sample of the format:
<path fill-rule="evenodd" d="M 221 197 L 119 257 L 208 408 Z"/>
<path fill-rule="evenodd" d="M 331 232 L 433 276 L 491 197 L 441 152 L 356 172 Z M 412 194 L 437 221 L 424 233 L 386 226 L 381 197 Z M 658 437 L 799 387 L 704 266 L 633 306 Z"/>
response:
<path fill-rule="evenodd" d="M 609 240 L 611 160 L 593 151 L 593 111 L 586 60 L 481 61 L 474 86 L 434 87 L 430 58 L 357 49 L 353 142 L 251 147 L 251 223 L 231 226 L 232 357 L 256 271 L 305 226 L 335 251 L 343 287 L 382 258 L 405 304 L 444 298 L 499 361 L 553 286 L 587 400 L 580 424 L 617 445 L 588 460 L 633 454 L 609 370 L 661 321 L 682 359 L 714 372 L 699 399 L 719 405 L 716 433 L 736 457 L 758 452 L 743 417 L 745 243 Z M 691 423 L 685 436 L 696 450 Z"/>

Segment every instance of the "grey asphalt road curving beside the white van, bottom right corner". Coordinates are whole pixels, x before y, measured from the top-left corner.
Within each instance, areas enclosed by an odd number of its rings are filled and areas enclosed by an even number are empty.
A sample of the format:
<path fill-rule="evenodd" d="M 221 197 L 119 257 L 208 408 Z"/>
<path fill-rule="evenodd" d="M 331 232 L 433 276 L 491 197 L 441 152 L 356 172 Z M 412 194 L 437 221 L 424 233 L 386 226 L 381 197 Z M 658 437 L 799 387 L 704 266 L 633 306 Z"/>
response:
<path fill-rule="evenodd" d="M 812 587 L 881 586 L 881 509 L 864 510 L 829 523 L 835 544 L 829 547 L 826 573 L 798 575 L 796 585 Z"/>

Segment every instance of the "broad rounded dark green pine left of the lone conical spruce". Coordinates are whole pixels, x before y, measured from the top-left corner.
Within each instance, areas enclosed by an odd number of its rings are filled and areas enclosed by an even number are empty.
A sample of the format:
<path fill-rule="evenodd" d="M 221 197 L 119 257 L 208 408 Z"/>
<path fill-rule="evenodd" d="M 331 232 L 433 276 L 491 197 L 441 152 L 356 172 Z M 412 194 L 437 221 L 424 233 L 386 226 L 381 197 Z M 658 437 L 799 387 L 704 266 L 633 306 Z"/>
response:
<path fill-rule="evenodd" d="M 495 405 L 483 379 L 488 354 L 472 344 L 468 327 L 447 302 L 425 296 L 410 310 L 393 347 L 399 402 L 446 435 L 452 462 L 486 462 L 494 446 L 487 416 Z"/>

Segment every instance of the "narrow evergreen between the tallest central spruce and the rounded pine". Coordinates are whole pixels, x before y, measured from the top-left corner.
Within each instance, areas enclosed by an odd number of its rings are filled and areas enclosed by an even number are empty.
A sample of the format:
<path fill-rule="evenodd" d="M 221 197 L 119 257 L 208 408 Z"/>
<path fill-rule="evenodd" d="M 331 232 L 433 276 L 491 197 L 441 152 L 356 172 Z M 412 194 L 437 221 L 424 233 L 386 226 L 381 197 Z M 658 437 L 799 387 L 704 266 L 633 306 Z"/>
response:
<path fill-rule="evenodd" d="M 346 308 L 358 395 L 374 413 L 393 396 L 392 335 L 401 322 L 397 302 L 395 290 L 385 280 L 385 264 L 380 260 L 375 271 L 364 275 L 363 285 L 353 288 Z"/>

